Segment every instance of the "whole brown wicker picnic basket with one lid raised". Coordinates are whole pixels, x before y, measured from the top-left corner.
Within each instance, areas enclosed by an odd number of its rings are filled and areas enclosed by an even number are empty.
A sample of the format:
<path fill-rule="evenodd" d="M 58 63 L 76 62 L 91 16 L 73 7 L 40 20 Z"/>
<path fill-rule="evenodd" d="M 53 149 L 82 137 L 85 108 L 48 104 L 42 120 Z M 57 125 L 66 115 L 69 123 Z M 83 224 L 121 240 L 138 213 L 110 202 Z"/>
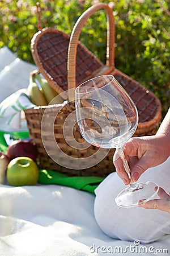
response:
<path fill-rule="evenodd" d="M 100 9 L 106 11 L 108 20 L 105 65 L 79 42 L 80 32 L 87 19 Z M 38 10 L 39 31 L 32 38 L 32 56 L 39 72 L 66 100 L 60 105 L 37 106 L 25 110 L 29 135 L 39 152 L 40 167 L 70 176 L 107 176 L 114 171 L 112 162 L 114 149 L 105 155 L 104 149 L 100 148 L 98 154 L 99 148 L 93 145 L 76 148 L 71 144 L 73 138 L 63 134 L 63 127 L 68 123 L 66 120 L 74 113 L 70 118 L 73 121 L 74 138 L 80 144 L 84 142 L 76 125 L 74 102 L 76 86 L 99 75 L 112 74 L 116 77 L 137 105 L 139 124 L 135 136 L 155 133 L 162 118 L 160 101 L 154 93 L 114 67 L 114 16 L 107 4 L 97 3 L 85 11 L 76 22 L 71 35 L 54 28 L 42 29 L 40 9 Z M 89 164 L 91 167 L 86 167 L 87 162 L 91 163 L 91 156 L 96 164 Z"/>

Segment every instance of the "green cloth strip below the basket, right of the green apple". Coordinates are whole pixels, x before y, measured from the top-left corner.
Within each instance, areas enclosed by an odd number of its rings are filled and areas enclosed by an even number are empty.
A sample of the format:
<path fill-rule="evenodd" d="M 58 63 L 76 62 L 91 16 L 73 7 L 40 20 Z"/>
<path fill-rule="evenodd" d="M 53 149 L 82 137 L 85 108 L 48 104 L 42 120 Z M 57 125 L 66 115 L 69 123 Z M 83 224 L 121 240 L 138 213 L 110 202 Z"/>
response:
<path fill-rule="evenodd" d="M 40 170 L 38 183 L 58 184 L 76 188 L 90 193 L 95 193 L 97 186 L 103 181 L 103 177 L 96 176 L 74 176 L 70 177 L 56 171 Z"/>

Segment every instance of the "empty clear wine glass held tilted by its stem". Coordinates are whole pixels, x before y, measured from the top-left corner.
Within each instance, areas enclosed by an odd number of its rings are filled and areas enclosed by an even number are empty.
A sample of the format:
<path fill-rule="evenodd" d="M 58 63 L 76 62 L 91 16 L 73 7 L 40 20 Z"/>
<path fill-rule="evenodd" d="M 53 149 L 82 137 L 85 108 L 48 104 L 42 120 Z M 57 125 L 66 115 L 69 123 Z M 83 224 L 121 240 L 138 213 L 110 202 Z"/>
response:
<path fill-rule="evenodd" d="M 124 146 L 138 125 L 138 111 L 128 93 L 112 75 L 83 82 L 75 89 L 76 119 L 82 137 L 102 148 L 116 148 L 130 177 Z M 114 154 L 115 155 L 115 154 Z M 116 154 L 117 155 L 117 154 Z M 134 207 L 141 199 L 150 200 L 158 192 L 153 182 L 131 183 L 118 193 L 120 207 Z"/>

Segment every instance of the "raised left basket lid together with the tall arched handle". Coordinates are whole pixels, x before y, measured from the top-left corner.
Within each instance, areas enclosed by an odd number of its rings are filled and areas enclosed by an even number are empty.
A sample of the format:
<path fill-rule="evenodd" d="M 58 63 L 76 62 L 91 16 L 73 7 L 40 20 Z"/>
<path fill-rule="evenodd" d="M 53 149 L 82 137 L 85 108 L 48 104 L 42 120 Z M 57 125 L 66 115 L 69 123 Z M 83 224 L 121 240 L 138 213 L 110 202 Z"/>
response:
<path fill-rule="evenodd" d="M 82 14 L 76 22 L 70 35 L 52 27 L 41 27 L 41 9 L 37 3 L 39 31 L 31 40 L 31 52 L 35 64 L 49 85 L 62 93 L 64 99 L 68 98 L 67 89 L 75 88 L 83 81 L 113 71 L 114 68 L 114 30 L 108 29 L 107 65 L 79 42 L 79 34 L 87 18 L 96 10 L 106 9 L 110 14 L 109 22 L 114 27 L 112 10 L 105 3 L 92 6 Z M 111 24 L 109 27 L 111 27 Z M 109 49 L 111 48 L 111 51 Z M 68 61 L 70 62 L 68 63 Z M 76 67 L 76 72 L 75 72 Z M 70 86 L 68 86 L 68 84 Z"/>

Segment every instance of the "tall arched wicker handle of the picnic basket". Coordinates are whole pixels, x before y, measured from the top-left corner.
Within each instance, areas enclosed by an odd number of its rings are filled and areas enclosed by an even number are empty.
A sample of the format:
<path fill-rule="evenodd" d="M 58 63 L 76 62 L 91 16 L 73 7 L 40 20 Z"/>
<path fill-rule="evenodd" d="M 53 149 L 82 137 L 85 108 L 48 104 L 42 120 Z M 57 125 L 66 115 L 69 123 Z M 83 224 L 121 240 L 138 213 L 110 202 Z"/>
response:
<path fill-rule="evenodd" d="M 112 9 L 106 3 L 97 3 L 87 9 L 77 20 L 74 25 L 73 31 L 70 36 L 68 58 L 67 58 L 67 81 L 69 89 L 69 101 L 75 100 L 74 90 L 76 88 L 76 49 L 78 45 L 78 39 L 80 32 L 86 23 L 87 19 L 90 18 L 95 11 L 104 8 L 107 13 L 107 67 L 114 68 L 114 16 Z"/>

